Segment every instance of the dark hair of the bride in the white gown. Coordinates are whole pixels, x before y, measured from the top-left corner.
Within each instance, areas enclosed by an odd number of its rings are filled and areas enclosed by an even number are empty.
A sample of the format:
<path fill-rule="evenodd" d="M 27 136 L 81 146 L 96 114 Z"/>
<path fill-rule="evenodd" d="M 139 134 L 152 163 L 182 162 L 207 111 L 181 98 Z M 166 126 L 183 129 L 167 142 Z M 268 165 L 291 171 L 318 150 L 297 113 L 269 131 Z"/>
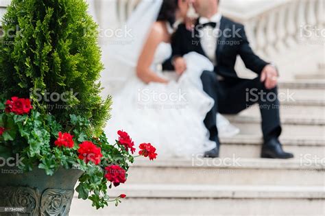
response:
<path fill-rule="evenodd" d="M 168 21 L 171 25 L 173 25 L 173 23 L 176 21 L 177 9 L 177 0 L 163 0 L 163 5 L 161 5 L 157 21 Z"/>

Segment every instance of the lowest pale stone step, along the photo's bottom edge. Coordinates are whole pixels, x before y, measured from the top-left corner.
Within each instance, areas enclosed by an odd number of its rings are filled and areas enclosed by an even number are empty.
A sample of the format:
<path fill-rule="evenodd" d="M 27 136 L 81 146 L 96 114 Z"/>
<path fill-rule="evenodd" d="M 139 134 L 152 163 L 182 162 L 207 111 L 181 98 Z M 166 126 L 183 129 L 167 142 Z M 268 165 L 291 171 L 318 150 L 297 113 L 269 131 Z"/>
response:
<path fill-rule="evenodd" d="M 324 187 L 215 186 L 132 184 L 117 187 L 112 197 L 128 194 L 118 207 L 94 211 L 73 200 L 71 216 L 80 215 L 324 215 Z"/>

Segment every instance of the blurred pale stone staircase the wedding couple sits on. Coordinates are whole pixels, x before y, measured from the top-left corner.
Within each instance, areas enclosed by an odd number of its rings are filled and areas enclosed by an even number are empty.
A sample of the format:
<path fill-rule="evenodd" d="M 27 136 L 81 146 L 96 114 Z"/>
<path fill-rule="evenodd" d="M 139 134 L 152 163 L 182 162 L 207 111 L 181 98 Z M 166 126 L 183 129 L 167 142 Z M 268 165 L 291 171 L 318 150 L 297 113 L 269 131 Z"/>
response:
<path fill-rule="evenodd" d="M 257 106 L 228 116 L 241 129 L 221 139 L 221 158 L 137 160 L 112 197 L 128 197 L 94 211 L 74 199 L 77 215 L 325 215 L 325 82 L 280 84 L 281 141 L 291 160 L 259 158 L 261 117 Z"/>

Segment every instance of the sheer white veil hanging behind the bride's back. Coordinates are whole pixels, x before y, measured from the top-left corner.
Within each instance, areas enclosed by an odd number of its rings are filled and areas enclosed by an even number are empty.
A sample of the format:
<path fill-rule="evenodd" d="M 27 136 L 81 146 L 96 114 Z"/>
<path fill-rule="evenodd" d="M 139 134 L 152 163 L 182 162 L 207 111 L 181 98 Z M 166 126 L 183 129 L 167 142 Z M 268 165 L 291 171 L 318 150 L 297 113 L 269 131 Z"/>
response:
<path fill-rule="evenodd" d="M 128 21 L 119 23 L 113 32 L 114 36 L 111 29 L 110 35 L 105 33 L 105 29 L 101 33 L 104 34 L 100 38 L 102 62 L 105 66 L 101 73 L 104 96 L 113 94 L 116 88 L 121 88 L 123 82 L 134 75 L 143 45 L 162 4 L 163 0 L 142 0 Z"/>

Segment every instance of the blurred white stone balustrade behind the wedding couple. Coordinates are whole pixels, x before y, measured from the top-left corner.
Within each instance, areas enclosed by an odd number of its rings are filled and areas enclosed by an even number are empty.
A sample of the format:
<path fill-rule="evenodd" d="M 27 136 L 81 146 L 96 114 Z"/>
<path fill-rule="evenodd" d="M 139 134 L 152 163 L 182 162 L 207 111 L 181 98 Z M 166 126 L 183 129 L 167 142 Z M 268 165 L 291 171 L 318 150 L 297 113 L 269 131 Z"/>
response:
<path fill-rule="evenodd" d="M 92 1 L 101 29 L 116 29 L 141 0 Z M 0 0 L 0 16 L 8 3 L 10 0 Z M 245 25 L 253 49 L 286 71 L 285 79 L 320 70 L 318 65 L 325 57 L 324 0 L 226 0 L 221 1 L 221 12 Z M 294 65 L 297 59 L 302 67 Z M 237 68 L 245 71 L 240 61 Z"/>

